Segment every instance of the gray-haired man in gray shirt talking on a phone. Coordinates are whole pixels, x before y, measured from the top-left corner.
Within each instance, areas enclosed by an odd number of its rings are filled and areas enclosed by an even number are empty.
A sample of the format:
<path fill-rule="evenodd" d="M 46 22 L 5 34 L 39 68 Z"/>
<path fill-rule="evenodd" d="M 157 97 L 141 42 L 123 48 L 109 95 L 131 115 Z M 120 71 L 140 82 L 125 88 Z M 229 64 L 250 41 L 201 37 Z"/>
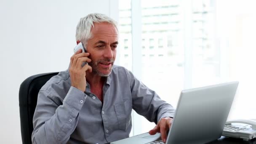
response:
<path fill-rule="evenodd" d="M 104 144 L 124 139 L 131 131 L 132 109 L 155 122 L 149 133 L 160 132 L 166 141 L 175 110 L 130 71 L 113 65 L 118 44 L 115 21 L 89 14 L 80 19 L 76 40 L 87 53 L 75 53 L 69 69 L 39 91 L 32 142 Z M 83 62 L 88 64 L 82 67 Z"/>

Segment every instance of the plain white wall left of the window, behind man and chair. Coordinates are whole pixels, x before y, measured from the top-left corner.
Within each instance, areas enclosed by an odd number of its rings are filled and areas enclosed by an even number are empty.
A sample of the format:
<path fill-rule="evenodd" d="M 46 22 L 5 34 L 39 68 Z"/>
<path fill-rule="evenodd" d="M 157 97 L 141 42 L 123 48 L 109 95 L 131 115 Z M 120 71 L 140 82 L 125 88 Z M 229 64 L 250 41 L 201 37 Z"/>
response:
<path fill-rule="evenodd" d="M 67 69 L 75 28 L 88 13 L 118 21 L 118 0 L 0 1 L 0 143 L 20 144 L 19 86 L 27 77 Z"/>

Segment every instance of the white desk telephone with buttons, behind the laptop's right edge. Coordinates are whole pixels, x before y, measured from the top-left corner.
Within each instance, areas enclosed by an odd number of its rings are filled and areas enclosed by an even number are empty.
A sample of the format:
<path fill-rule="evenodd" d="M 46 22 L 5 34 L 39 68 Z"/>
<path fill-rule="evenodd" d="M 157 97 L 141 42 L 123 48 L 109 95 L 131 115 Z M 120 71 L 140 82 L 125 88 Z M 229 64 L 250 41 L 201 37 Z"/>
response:
<path fill-rule="evenodd" d="M 250 140 L 256 138 L 256 119 L 227 121 L 222 136 Z"/>

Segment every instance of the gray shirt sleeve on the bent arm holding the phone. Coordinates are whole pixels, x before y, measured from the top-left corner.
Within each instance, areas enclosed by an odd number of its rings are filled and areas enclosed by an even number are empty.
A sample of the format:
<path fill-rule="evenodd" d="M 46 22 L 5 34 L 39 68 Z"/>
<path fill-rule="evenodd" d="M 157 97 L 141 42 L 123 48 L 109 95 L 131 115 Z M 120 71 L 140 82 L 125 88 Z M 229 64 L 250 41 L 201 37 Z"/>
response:
<path fill-rule="evenodd" d="M 33 144 L 67 143 L 75 130 L 86 96 L 77 88 L 70 87 L 63 104 L 58 104 L 58 97 L 47 90 L 39 91 L 33 117 Z"/>

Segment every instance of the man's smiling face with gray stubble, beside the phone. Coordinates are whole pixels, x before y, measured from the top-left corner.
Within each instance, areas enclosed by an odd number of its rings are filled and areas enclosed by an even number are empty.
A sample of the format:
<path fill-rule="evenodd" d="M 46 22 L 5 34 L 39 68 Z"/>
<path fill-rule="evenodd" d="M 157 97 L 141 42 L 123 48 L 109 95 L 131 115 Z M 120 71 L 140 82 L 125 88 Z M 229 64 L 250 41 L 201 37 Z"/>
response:
<path fill-rule="evenodd" d="M 114 25 L 106 22 L 94 23 L 91 33 L 93 37 L 87 42 L 87 51 L 92 60 L 89 65 L 92 67 L 93 73 L 104 77 L 108 76 L 116 57 L 117 29 Z"/>

